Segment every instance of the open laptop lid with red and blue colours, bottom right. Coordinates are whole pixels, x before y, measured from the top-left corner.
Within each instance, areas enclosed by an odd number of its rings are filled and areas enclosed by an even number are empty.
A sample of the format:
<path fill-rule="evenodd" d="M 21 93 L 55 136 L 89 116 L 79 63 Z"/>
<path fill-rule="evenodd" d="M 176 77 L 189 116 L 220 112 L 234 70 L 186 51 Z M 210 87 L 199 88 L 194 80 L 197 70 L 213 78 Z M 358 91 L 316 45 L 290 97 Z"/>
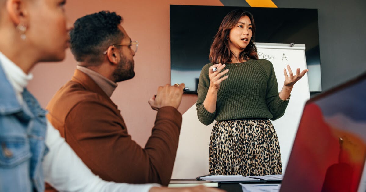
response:
<path fill-rule="evenodd" d="M 366 158 L 366 73 L 306 102 L 280 191 L 357 191 Z"/>

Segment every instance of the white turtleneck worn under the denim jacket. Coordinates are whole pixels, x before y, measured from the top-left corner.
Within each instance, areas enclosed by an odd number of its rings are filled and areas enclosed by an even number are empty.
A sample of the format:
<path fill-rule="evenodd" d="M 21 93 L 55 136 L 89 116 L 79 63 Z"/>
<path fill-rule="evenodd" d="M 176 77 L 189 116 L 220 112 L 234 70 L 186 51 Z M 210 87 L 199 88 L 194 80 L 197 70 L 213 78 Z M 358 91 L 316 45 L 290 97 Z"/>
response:
<path fill-rule="evenodd" d="M 33 76 L 25 74 L 18 65 L 1 52 L 0 65 L 22 105 L 22 92 Z M 49 152 L 42 162 L 44 178 L 58 191 L 144 192 L 149 191 L 154 186 L 160 186 L 158 184 L 126 184 L 102 180 L 81 161 L 49 121 L 47 121 L 45 143 Z"/>

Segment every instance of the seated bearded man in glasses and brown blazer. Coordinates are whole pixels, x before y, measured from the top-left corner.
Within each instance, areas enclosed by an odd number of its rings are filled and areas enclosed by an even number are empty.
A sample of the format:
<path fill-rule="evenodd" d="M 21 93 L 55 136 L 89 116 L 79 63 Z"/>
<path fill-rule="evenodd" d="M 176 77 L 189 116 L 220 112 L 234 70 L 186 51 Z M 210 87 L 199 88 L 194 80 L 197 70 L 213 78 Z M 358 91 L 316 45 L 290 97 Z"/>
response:
<path fill-rule="evenodd" d="M 109 98 L 116 82 L 134 77 L 137 42 L 131 41 L 121 21 L 115 12 L 106 11 L 76 20 L 70 38 L 78 65 L 72 79 L 49 102 L 48 119 L 102 179 L 168 185 L 182 124 L 177 108 L 184 84 L 159 87 L 149 100 L 158 112 L 152 135 L 145 148 L 140 147 Z"/>

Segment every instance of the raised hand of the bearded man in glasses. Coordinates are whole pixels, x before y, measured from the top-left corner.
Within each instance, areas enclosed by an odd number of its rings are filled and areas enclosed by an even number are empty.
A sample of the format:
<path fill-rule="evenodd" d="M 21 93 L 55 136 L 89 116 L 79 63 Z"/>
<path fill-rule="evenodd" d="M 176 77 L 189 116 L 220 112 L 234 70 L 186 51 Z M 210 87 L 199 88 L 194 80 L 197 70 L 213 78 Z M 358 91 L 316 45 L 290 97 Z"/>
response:
<path fill-rule="evenodd" d="M 181 83 L 180 85 L 175 84 L 173 86 L 166 84 L 164 87 L 158 87 L 156 96 L 149 99 L 151 108 L 159 110 L 165 106 L 172 106 L 173 108 L 178 109 L 180 101 L 182 101 L 184 87 L 184 83 Z"/>

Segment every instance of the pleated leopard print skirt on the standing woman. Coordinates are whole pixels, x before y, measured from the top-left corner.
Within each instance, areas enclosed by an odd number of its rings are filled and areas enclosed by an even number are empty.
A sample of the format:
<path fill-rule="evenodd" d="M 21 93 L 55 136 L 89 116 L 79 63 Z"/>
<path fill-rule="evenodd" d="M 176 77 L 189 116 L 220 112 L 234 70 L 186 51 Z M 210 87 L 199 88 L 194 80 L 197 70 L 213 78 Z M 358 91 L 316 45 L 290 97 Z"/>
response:
<path fill-rule="evenodd" d="M 282 174 L 280 144 L 269 120 L 217 121 L 209 146 L 210 173 Z"/>

